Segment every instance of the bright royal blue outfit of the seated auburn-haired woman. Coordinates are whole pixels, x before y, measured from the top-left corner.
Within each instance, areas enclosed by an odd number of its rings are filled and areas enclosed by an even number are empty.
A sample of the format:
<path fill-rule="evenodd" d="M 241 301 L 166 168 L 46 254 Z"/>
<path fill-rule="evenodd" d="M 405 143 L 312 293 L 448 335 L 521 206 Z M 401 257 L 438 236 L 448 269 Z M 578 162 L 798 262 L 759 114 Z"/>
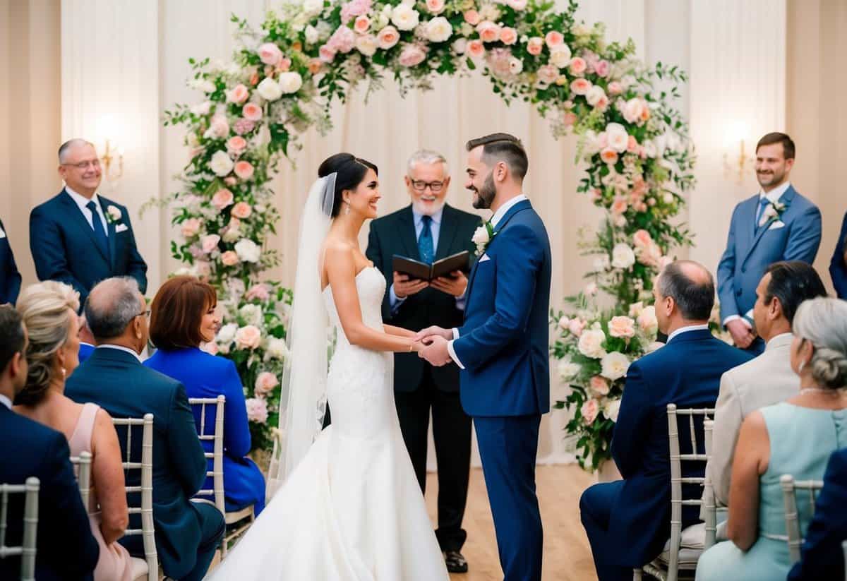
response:
<path fill-rule="evenodd" d="M 148 368 L 164 373 L 185 385 L 188 397 L 226 396 L 224 404 L 224 490 L 226 510 L 237 511 L 254 505 L 256 514 L 264 508 L 265 482 L 262 471 L 246 455 L 250 451 L 250 426 L 244 388 L 235 369 L 235 363 L 224 357 L 215 357 L 196 347 L 164 351 L 159 349 L 144 362 Z M 200 408 L 195 407 L 194 423 L 200 429 Z M 213 434 L 215 407 L 206 407 L 206 434 Z M 214 442 L 202 442 L 206 451 L 214 451 Z M 209 470 L 212 461 L 209 460 Z M 206 479 L 203 489 L 212 490 L 212 477 Z M 211 497 L 209 500 L 213 500 Z"/>

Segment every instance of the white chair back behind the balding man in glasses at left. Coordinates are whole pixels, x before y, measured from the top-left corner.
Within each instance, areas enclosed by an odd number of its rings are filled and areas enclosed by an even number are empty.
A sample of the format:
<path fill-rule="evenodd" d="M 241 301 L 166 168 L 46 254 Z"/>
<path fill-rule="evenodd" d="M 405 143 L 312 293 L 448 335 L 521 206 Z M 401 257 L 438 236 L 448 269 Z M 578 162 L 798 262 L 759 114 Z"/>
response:
<path fill-rule="evenodd" d="M 126 451 L 124 455 L 125 476 L 133 470 L 141 471 L 141 485 L 126 487 L 126 500 L 130 515 L 141 515 L 141 528 L 127 528 L 125 536 L 141 534 L 144 543 L 144 558 L 147 561 L 147 579 L 158 580 L 158 553 L 156 551 L 156 528 L 153 525 L 153 414 L 146 413 L 144 418 L 113 418 L 116 429 L 126 429 Z M 132 458 L 133 428 L 141 427 L 141 462 Z M 127 479 L 130 482 L 130 479 Z M 130 499 L 138 498 L 140 506 L 133 506 Z"/>

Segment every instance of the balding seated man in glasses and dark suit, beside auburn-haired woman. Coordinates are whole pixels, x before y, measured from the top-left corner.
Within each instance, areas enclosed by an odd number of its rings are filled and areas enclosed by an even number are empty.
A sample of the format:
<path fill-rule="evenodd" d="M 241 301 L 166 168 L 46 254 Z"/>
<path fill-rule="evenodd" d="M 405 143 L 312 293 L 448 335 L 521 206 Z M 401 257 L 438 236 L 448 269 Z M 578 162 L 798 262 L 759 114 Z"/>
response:
<path fill-rule="evenodd" d="M 153 521 L 156 548 L 165 575 L 201 579 L 224 534 L 224 517 L 209 504 L 191 502 L 206 479 L 206 457 L 180 382 L 141 365 L 147 345 L 147 303 L 135 279 L 103 280 L 91 289 L 86 321 L 97 349 L 76 369 L 65 388 L 74 401 L 97 403 L 113 418 L 153 414 Z M 120 430 L 125 450 L 125 430 Z M 141 434 L 131 455 L 141 458 Z M 127 486 L 141 473 L 127 473 Z M 141 528 L 137 515 L 131 528 Z M 133 556 L 144 556 L 141 536 L 120 542 Z"/>

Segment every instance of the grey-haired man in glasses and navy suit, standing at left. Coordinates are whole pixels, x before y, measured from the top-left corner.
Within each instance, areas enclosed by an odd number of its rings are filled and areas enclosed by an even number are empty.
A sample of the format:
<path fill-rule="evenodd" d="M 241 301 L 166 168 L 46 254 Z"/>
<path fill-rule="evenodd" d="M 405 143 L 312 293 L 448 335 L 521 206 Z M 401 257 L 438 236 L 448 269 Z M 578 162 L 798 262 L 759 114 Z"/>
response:
<path fill-rule="evenodd" d="M 58 149 L 64 189 L 30 213 L 30 251 L 40 280 L 60 280 L 80 293 L 103 279 L 131 276 L 147 290 L 147 264 L 136 249 L 130 213 L 97 193 L 102 172 L 88 141 L 72 139 Z"/>

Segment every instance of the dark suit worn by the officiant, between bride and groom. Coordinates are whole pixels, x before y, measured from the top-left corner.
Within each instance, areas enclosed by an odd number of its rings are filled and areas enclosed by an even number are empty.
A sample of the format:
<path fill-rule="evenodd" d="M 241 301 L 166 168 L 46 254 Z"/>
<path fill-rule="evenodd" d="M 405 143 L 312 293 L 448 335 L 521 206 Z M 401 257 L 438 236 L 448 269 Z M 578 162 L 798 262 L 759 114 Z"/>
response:
<path fill-rule="evenodd" d="M 387 290 L 382 312 L 386 324 L 414 331 L 430 325 L 445 329 L 462 325 L 463 296 L 451 296 L 430 286 L 398 300 L 392 288 L 392 256 L 399 254 L 433 262 L 468 251 L 473 257 L 475 246 L 471 238 L 479 225 L 479 216 L 446 204 L 431 217 L 414 211 L 409 205 L 374 220 L 366 255 L 385 274 Z M 429 253 L 434 254 L 425 256 Z M 396 353 L 394 389 L 403 439 L 421 490 L 426 484 L 427 434 L 432 410 L 438 462 L 438 529 L 435 534 L 442 551 L 459 551 L 467 537 L 462 530 L 462 517 L 468 497 L 471 451 L 471 419 L 459 401 L 459 370 L 455 365 L 433 368 L 417 353 Z"/>

